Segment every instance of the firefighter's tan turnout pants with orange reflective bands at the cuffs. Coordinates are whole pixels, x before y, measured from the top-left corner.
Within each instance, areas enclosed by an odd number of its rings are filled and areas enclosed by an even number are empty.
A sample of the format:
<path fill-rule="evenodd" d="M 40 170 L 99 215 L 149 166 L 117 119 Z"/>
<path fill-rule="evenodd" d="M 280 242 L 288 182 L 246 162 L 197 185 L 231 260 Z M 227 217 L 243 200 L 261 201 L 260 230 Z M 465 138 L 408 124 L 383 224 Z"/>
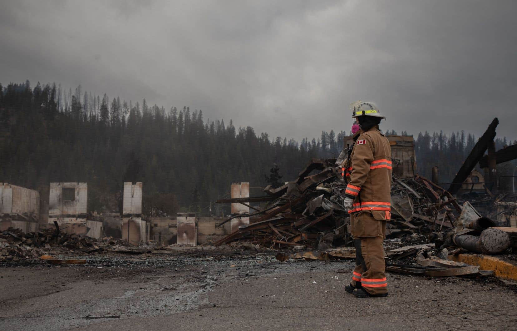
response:
<path fill-rule="evenodd" d="M 373 295 L 388 293 L 383 248 L 386 221 L 376 220 L 369 210 L 361 210 L 350 215 L 350 225 L 356 247 L 352 285 Z"/>

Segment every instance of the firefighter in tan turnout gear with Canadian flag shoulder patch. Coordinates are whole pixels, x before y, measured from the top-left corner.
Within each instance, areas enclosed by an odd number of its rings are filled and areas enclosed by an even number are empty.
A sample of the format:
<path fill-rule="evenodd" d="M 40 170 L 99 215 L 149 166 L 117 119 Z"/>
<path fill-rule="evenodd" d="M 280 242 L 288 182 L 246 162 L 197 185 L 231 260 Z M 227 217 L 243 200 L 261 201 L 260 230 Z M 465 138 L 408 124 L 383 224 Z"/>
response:
<path fill-rule="evenodd" d="M 356 267 L 345 291 L 357 297 L 387 296 L 383 240 L 391 218 L 391 148 L 378 126 L 386 117 L 373 102 L 359 100 L 351 110 L 360 128 L 345 165 L 343 205 L 350 215 Z"/>

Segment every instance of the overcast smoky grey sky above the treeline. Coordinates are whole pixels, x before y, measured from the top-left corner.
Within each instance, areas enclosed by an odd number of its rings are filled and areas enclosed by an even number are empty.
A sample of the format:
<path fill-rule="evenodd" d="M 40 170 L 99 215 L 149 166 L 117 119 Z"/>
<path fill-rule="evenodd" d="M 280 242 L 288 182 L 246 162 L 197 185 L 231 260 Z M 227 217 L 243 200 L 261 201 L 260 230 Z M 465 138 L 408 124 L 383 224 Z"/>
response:
<path fill-rule="evenodd" d="M 301 140 L 383 129 L 516 139 L 515 1 L 0 1 L 0 82 L 203 110 Z"/>

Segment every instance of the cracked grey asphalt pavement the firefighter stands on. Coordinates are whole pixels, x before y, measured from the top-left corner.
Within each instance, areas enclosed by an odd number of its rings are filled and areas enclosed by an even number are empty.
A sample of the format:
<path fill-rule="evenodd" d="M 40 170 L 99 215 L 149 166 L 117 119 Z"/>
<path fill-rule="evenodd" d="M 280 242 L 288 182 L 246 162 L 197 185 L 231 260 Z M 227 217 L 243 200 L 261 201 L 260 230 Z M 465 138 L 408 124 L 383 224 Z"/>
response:
<path fill-rule="evenodd" d="M 99 255 L 0 266 L 1 330 L 517 330 L 513 285 L 387 274 L 389 296 L 344 291 L 354 261 L 271 253 Z"/>

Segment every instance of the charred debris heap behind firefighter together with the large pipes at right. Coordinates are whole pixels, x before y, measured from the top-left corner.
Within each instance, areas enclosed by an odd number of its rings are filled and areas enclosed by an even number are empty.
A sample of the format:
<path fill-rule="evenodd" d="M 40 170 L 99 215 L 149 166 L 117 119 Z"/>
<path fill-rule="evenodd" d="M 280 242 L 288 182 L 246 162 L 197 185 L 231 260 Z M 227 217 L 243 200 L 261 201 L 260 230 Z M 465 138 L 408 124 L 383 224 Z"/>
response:
<path fill-rule="evenodd" d="M 241 225 L 216 246 L 239 241 L 275 249 L 352 247 L 348 231 L 350 220 L 342 206 L 345 187 L 336 159 L 313 159 L 292 182 L 278 188 L 266 187 L 265 197 L 225 200 L 239 203 L 269 200 L 270 203 L 255 213 L 233 215 L 218 224 L 239 216 L 251 217 L 249 225 Z M 401 246 L 423 248 L 426 244 L 435 244 L 433 247 L 438 249 L 459 246 L 469 251 L 500 253 L 514 245 L 515 237 L 508 228 L 483 232 L 495 225 L 490 219 L 482 218 L 468 202 L 460 205 L 452 194 L 429 179 L 418 175 L 393 178 L 391 221 L 385 241 L 387 251 Z M 487 236 L 489 233 L 492 235 Z M 470 237 L 465 239 L 467 236 Z M 497 248 L 487 248 L 490 246 L 487 240 L 503 240 L 504 243 Z M 405 252 L 402 257 L 397 251 L 394 254 L 397 259 L 415 256 L 417 249 Z"/>

